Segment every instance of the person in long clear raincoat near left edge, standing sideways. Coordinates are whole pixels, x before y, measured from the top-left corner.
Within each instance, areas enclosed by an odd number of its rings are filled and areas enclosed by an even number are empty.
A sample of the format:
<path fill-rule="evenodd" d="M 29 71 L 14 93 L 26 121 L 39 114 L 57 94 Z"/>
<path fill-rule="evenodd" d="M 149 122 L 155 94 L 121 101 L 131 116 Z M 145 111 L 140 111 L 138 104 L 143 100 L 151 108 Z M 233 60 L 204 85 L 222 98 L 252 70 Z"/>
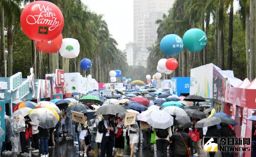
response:
<path fill-rule="evenodd" d="M 13 116 L 11 119 L 11 137 L 10 141 L 12 143 L 12 153 L 19 153 L 21 152 L 21 145 L 20 145 L 20 132 L 24 130 L 18 130 L 20 117 L 18 115 Z"/>

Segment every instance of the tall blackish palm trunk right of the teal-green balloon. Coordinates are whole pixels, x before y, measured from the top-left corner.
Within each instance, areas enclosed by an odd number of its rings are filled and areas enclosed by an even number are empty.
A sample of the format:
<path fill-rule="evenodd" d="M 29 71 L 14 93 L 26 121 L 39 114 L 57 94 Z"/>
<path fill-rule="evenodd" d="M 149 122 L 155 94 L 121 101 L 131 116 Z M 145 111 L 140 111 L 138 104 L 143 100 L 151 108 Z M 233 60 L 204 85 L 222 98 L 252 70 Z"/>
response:
<path fill-rule="evenodd" d="M 228 30 L 228 55 L 227 55 L 227 69 L 232 70 L 232 62 L 233 62 L 233 1 L 230 4 L 230 11 L 229 11 L 229 30 Z"/>

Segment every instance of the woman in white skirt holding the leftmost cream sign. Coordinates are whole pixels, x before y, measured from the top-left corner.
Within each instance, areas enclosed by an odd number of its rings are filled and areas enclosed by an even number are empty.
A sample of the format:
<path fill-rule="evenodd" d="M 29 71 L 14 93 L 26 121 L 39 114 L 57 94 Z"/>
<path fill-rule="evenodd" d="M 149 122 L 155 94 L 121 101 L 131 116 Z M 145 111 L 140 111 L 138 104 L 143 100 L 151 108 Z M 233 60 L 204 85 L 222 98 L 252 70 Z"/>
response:
<path fill-rule="evenodd" d="M 87 120 L 87 114 L 84 114 L 84 120 L 85 120 L 85 124 L 81 124 L 81 133 L 79 135 L 80 141 L 81 141 L 81 153 L 80 156 L 87 157 L 86 153 L 87 153 L 87 145 L 90 144 L 90 142 L 87 140 L 89 137 L 89 129 L 92 127 L 92 124 L 90 121 Z M 84 152 L 82 151 L 84 146 Z"/>

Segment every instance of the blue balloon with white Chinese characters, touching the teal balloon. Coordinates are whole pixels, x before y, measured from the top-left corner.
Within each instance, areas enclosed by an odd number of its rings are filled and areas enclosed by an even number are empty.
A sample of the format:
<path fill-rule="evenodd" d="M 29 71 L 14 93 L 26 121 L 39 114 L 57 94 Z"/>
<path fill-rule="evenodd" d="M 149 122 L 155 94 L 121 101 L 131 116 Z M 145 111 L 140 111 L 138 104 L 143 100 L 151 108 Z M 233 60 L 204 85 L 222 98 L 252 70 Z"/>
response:
<path fill-rule="evenodd" d="M 175 56 L 182 51 L 183 41 L 179 35 L 166 35 L 160 42 L 160 49 L 167 56 Z"/>

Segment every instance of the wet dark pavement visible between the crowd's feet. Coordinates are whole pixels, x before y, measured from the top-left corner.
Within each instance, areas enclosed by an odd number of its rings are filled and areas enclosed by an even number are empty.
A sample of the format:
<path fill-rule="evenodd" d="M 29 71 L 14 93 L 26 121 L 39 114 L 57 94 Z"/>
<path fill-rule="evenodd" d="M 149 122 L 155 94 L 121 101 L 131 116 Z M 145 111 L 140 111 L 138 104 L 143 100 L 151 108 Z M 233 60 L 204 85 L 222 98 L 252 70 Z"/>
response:
<path fill-rule="evenodd" d="M 142 144 L 138 144 L 138 151 L 136 156 L 140 157 L 156 157 L 156 145 L 151 150 L 143 150 Z M 49 148 L 49 157 L 79 157 L 79 154 L 76 153 L 78 150 L 78 145 L 73 144 L 73 140 L 66 140 L 65 138 L 62 141 L 55 142 L 55 146 L 53 148 Z M 38 157 L 41 154 L 41 150 L 37 154 L 32 154 L 29 152 L 29 155 L 20 155 L 18 154 L 17 157 Z M 12 155 L 3 155 L 11 157 Z M 98 154 L 99 156 L 99 154 Z M 124 157 L 130 156 L 130 148 L 125 145 L 124 148 Z M 94 157 L 94 154 L 87 154 L 87 157 Z"/>

